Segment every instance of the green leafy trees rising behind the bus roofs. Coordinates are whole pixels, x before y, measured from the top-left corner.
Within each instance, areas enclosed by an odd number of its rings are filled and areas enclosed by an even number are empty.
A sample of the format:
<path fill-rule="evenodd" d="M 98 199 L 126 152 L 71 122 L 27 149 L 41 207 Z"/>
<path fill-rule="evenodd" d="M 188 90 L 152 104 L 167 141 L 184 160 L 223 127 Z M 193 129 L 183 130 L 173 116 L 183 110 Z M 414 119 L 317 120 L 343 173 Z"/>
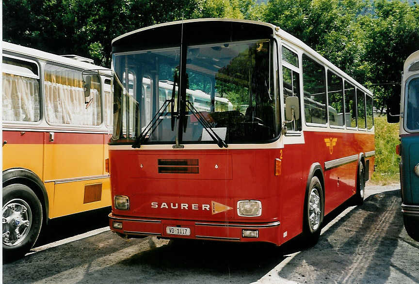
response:
<path fill-rule="evenodd" d="M 402 0 L 7 0 L 2 5 L 5 41 L 91 57 L 106 67 L 112 40 L 146 26 L 204 17 L 266 21 L 370 87 L 378 109 L 400 91 L 403 62 L 419 48 L 419 4 Z M 380 85 L 389 82 L 396 84 Z"/>

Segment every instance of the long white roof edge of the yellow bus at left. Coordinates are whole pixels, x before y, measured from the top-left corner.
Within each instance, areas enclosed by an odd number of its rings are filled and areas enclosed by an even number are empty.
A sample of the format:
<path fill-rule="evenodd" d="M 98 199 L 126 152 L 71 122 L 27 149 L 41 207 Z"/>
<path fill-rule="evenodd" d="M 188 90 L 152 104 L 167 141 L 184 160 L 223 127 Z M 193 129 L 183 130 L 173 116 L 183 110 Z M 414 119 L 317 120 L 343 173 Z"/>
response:
<path fill-rule="evenodd" d="M 112 74 L 111 69 L 108 69 L 102 66 L 97 66 L 94 64 L 81 62 L 75 59 L 66 58 L 64 56 L 56 55 L 53 53 L 48 53 L 48 52 L 41 51 L 38 49 L 30 48 L 30 47 L 22 47 L 22 46 L 8 43 L 5 41 L 2 42 L 1 49 L 3 51 L 3 54 L 4 54 L 4 51 L 15 52 L 15 53 L 26 55 L 29 57 L 34 57 L 37 59 L 46 60 L 53 63 L 66 64 L 66 65 L 78 67 L 85 70 L 100 69 L 99 73 L 106 76 L 111 76 Z"/>

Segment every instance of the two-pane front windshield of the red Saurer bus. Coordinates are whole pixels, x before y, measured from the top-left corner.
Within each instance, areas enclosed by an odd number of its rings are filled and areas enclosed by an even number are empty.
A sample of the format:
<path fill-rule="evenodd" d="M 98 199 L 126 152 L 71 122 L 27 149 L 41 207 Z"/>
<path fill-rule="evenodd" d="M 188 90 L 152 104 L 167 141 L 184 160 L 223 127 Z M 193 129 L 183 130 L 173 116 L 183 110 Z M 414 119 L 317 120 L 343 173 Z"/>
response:
<path fill-rule="evenodd" d="M 215 143 L 204 125 L 227 143 L 274 139 L 280 116 L 272 49 L 271 41 L 255 40 L 189 46 L 183 57 L 180 47 L 113 54 L 113 139 L 174 143 L 178 135 L 181 143 Z"/>

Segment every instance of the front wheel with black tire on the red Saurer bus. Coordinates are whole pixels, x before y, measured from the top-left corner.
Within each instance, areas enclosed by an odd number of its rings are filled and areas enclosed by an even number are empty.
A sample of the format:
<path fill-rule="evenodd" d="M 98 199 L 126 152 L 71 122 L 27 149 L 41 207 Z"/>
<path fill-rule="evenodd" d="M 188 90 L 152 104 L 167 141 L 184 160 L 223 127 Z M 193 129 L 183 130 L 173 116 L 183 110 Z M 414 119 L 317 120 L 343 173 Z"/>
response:
<path fill-rule="evenodd" d="M 314 205 L 314 206 L 313 206 Z M 306 247 L 314 246 L 322 231 L 324 197 L 322 184 L 317 176 L 311 178 L 304 199 L 303 240 Z"/>

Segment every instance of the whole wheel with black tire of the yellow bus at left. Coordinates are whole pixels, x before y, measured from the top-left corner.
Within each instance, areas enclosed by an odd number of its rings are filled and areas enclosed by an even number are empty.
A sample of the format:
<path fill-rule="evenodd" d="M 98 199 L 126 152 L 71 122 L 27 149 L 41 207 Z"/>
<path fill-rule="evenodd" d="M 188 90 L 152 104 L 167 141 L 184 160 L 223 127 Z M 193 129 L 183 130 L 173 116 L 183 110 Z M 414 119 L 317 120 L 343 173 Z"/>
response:
<path fill-rule="evenodd" d="M 36 242 L 42 226 L 42 205 L 32 189 L 12 184 L 3 188 L 2 208 L 3 260 L 8 262 L 25 255 Z"/>

